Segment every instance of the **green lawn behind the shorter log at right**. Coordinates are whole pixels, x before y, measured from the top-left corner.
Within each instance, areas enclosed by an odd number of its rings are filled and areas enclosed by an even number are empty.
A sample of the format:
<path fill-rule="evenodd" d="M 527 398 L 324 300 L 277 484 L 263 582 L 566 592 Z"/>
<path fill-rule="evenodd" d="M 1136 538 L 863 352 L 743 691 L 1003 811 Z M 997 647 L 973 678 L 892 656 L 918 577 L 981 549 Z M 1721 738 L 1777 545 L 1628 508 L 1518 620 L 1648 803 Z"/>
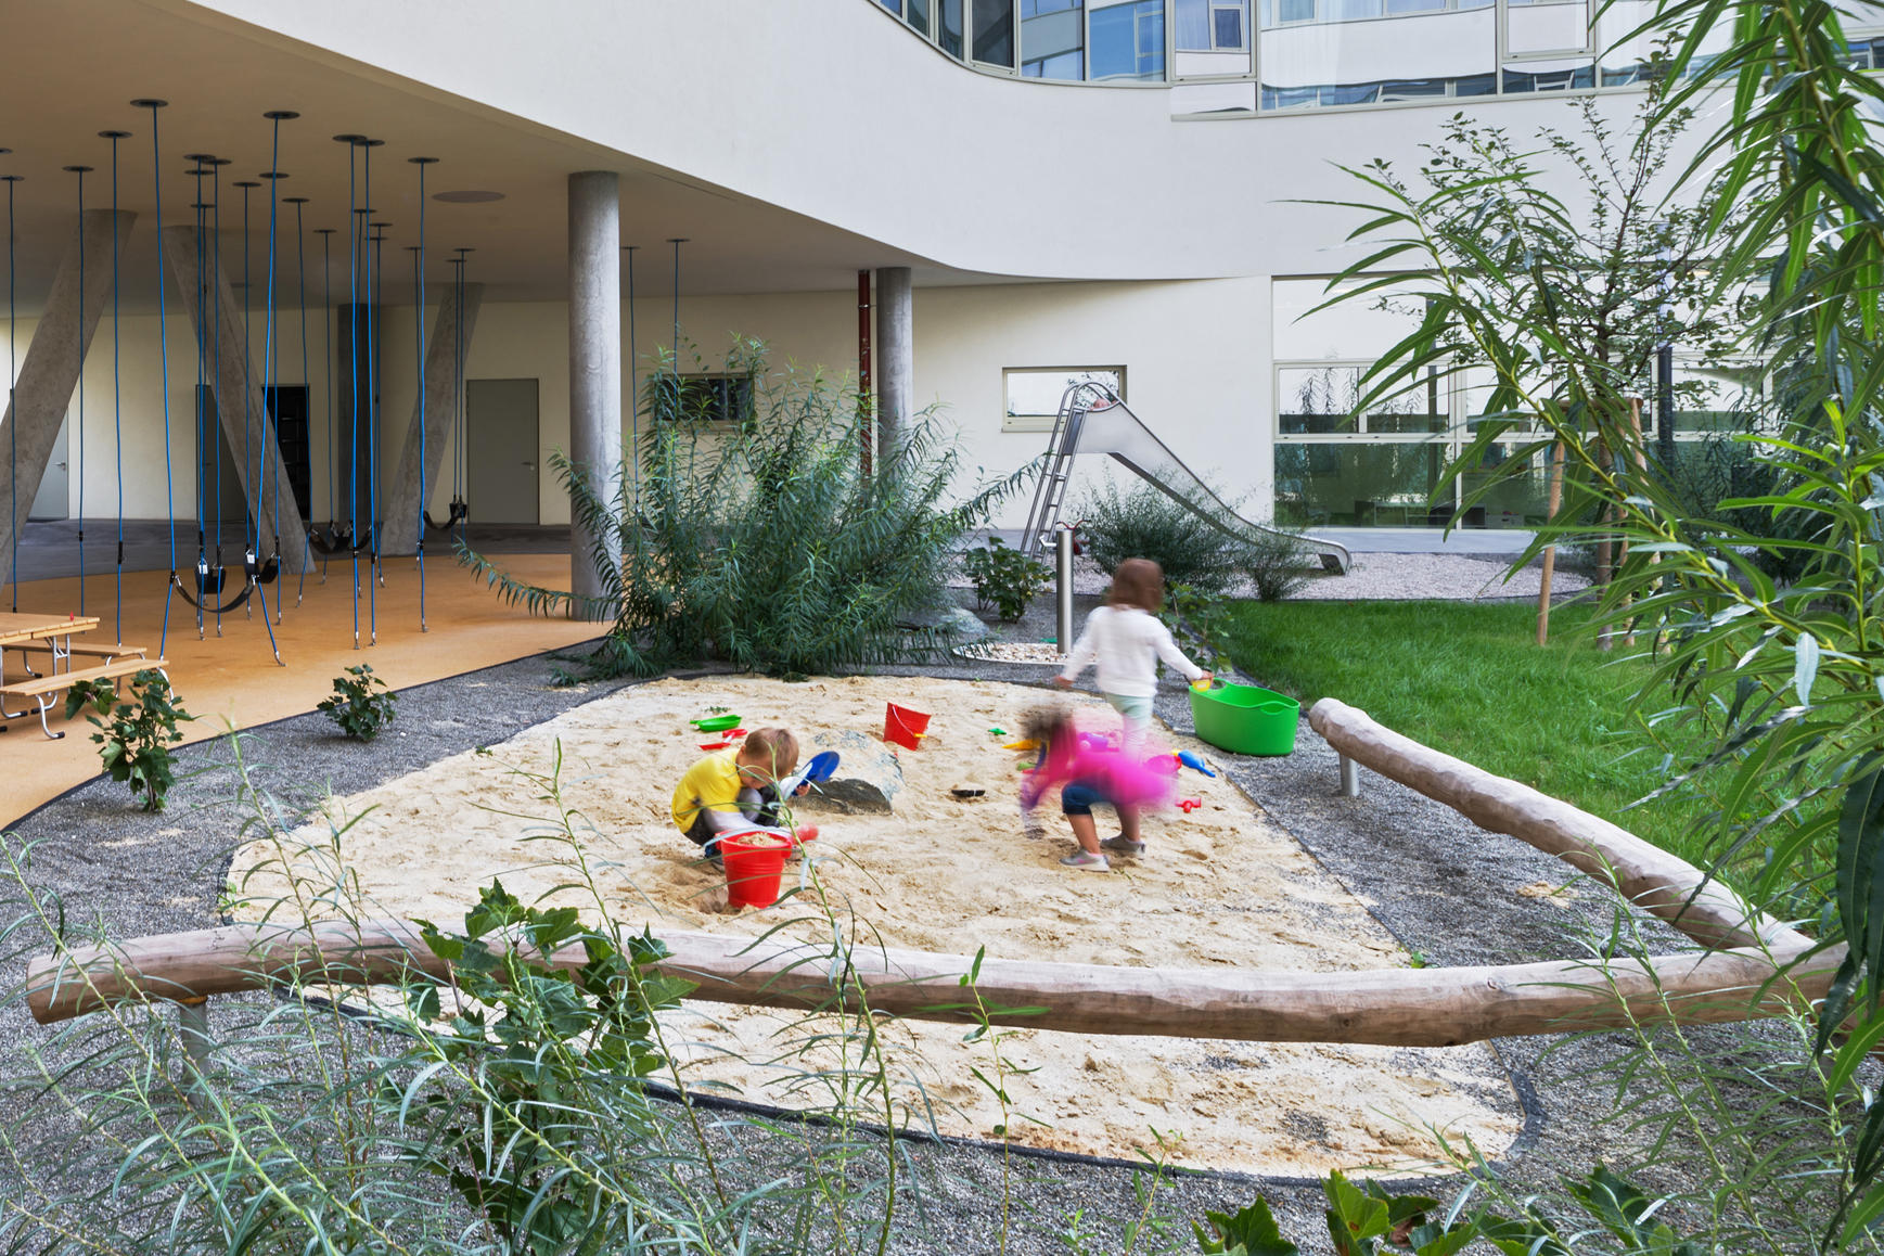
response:
<path fill-rule="evenodd" d="M 1581 635 L 1558 608 L 1535 646 L 1534 604 L 1240 603 L 1238 667 L 1302 700 L 1334 697 L 1417 742 L 1509 776 L 1703 862 L 1696 804 L 1624 810 L 1660 783 L 1660 751 L 1628 699 L 1647 665 Z"/>

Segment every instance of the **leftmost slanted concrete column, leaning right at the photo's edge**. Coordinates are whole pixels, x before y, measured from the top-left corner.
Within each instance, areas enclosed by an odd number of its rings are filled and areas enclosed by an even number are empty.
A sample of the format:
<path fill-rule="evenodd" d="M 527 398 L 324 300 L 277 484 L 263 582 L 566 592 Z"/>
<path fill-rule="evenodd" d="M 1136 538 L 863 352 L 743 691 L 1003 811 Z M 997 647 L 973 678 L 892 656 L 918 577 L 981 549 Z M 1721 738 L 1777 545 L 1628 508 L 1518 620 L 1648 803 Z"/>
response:
<path fill-rule="evenodd" d="M 119 211 L 119 252 L 130 239 L 138 215 Z M 0 582 L 11 578 L 8 563 L 13 540 L 26 523 L 32 499 L 40 495 L 40 480 L 53 458 L 58 427 L 66 422 L 72 390 L 79 386 L 85 354 L 98 331 L 98 318 L 111 298 L 111 211 L 87 209 L 72 232 L 66 256 L 58 260 L 53 290 L 45 298 L 45 314 L 19 363 L 13 399 L 0 422 Z M 79 258 L 85 258 L 85 292 L 79 292 Z M 17 409 L 17 412 L 15 412 Z M 81 469 L 83 473 L 83 469 Z"/>

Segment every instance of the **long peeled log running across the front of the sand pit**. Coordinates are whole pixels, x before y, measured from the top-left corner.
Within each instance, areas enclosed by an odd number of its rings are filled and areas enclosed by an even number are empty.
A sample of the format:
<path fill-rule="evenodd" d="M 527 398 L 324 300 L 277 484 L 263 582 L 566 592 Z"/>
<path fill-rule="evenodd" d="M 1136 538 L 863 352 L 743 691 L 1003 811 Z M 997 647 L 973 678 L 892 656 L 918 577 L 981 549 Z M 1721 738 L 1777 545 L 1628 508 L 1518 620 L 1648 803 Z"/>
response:
<path fill-rule="evenodd" d="M 699 983 L 693 998 L 793 1009 L 876 1011 L 966 1023 L 970 960 L 927 951 L 755 943 L 667 932 L 661 972 Z M 1215 972 L 983 960 L 976 990 L 991 1021 L 1076 1034 L 1162 1034 L 1236 1041 L 1340 1041 L 1451 1047 L 1485 1038 L 1567 1034 L 1633 1023 L 1716 1023 L 1801 1011 L 1822 998 L 1837 953 L 1714 951 L 1650 960 L 1377 968 L 1364 972 Z M 552 957 L 580 966 L 580 949 Z M 1777 979 L 1775 979 L 1777 977 Z M 126 1000 L 200 1000 L 279 983 L 448 981 L 450 970 L 405 921 L 315 928 L 228 925 L 41 957 L 26 975 L 41 1024 Z"/>

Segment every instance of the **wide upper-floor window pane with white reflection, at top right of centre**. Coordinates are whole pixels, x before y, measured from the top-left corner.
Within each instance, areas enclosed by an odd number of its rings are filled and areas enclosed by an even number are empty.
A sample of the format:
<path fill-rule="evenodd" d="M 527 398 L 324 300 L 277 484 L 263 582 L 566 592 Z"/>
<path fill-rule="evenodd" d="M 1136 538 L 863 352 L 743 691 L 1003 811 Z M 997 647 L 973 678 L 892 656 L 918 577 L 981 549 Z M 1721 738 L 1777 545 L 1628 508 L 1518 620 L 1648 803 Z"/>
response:
<path fill-rule="evenodd" d="M 1277 24 L 1262 30 L 1262 107 L 1494 92 L 1498 9 L 1468 2 L 1383 0 L 1373 9 L 1366 0 L 1323 0 L 1315 21 L 1315 0 L 1277 0 Z"/>

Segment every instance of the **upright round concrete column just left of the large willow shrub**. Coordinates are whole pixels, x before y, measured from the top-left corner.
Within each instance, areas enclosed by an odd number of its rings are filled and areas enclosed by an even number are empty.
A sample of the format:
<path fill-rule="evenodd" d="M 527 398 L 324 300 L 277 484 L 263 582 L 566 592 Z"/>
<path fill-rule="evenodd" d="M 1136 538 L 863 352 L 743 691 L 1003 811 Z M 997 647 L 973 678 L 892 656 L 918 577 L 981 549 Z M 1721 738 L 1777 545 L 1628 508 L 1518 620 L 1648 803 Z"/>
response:
<path fill-rule="evenodd" d="M 622 188 L 609 169 L 569 175 L 569 459 L 597 497 L 614 501 L 622 480 Z M 569 529 L 569 578 L 578 597 L 603 593 L 595 537 L 580 518 Z"/>

